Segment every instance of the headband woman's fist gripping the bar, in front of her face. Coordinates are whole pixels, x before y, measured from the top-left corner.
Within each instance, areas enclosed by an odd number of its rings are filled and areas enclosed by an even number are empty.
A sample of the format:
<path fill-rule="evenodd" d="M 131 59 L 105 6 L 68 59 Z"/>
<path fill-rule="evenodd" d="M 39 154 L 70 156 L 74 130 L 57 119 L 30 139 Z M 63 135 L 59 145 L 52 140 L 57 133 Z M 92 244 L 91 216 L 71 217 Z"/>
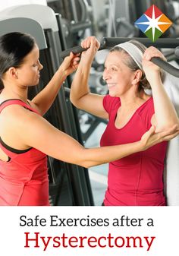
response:
<path fill-rule="evenodd" d="M 88 36 L 81 42 L 81 47 L 86 49 L 86 51 L 82 52 L 81 59 L 85 62 L 92 62 L 100 47 L 100 43 L 95 36 Z"/>

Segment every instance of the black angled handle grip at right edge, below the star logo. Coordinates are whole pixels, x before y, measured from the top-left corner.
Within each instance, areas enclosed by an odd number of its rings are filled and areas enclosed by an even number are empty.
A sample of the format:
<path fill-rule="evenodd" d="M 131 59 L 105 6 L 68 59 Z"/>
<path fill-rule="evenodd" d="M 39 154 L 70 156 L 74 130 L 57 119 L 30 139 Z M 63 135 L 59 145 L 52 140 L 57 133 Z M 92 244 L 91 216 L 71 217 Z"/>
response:
<path fill-rule="evenodd" d="M 165 62 L 162 60 L 162 58 L 159 57 L 153 57 L 151 59 L 151 62 L 153 62 L 155 65 L 158 65 L 160 68 L 168 72 L 169 74 L 174 75 L 174 77 L 179 77 L 179 68 L 175 68 L 168 62 Z"/>

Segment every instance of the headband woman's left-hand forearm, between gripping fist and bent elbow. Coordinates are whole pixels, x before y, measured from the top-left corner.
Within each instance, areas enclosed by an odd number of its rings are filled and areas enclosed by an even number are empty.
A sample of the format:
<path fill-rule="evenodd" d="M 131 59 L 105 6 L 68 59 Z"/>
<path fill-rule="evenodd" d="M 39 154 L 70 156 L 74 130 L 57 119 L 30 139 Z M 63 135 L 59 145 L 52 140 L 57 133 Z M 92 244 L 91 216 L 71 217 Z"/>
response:
<path fill-rule="evenodd" d="M 71 84 L 71 95 L 70 100 L 74 104 L 74 106 L 78 107 L 78 103 L 80 99 L 86 94 L 90 93 L 89 90 L 89 71 L 91 65 L 80 65 L 77 68 L 76 73 L 74 74 L 74 79 Z"/>

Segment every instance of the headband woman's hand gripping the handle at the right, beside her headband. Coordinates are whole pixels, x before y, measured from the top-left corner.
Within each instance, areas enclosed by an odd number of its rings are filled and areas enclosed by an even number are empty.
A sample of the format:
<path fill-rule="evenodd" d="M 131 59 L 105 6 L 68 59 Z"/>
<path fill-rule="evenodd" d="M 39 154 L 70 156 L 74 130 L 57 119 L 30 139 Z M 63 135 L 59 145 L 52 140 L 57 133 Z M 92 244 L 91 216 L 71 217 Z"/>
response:
<path fill-rule="evenodd" d="M 162 54 L 162 52 L 159 51 L 159 49 L 156 49 L 153 46 L 150 46 L 146 49 L 146 51 L 143 54 L 143 71 L 145 74 L 151 74 L 152 71 L 159 72 L 160 68 L 159 66 L 152 63 L 150 60 L 152 57 L 159 57 L 162 58 L 166 62 L 165 56 Z"/>

